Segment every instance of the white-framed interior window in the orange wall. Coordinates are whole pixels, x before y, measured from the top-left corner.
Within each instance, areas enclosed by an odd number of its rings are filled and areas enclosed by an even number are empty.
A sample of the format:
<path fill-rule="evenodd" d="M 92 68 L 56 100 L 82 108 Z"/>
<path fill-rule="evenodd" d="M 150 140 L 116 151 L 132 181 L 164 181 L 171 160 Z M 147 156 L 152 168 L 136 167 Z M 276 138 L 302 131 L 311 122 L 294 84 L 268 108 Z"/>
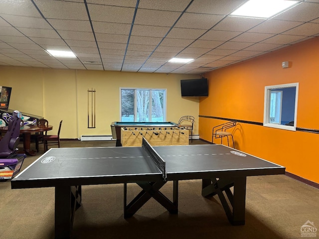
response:
<path fill-rule="evenodd" d="M 298 83 L 266 86 L 264 126 L 296 130 Z"/>

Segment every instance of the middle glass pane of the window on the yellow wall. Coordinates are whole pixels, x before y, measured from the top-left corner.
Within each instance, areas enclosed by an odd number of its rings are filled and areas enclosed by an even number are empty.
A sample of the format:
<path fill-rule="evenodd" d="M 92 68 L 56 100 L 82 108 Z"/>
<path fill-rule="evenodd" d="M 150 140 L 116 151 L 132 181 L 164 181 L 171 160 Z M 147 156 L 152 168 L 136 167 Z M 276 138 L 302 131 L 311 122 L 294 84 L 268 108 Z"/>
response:
<path fill-rule="evenodd" d="M 137 97 L 137 120 L 149 120 L 149 90 L 136 90 Z"/>

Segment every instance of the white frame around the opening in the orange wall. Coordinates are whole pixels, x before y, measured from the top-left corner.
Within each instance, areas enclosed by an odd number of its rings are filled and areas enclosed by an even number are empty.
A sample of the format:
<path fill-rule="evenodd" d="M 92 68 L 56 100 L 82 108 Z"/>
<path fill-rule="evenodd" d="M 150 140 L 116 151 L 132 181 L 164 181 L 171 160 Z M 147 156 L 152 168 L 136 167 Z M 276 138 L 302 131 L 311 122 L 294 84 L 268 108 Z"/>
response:
<path fill-rule="evenodd" d="M 292 87 L 296 87 L 294 125 L 283 125 L 283 124 L 278 124 L 278 123 L 271 123 L 270 118 L 269 118 L 270 117 L 271 90 L 280 90 L 283 88 L 292 88 Z M 265 86 L 264 123 L 263 123 L 263 125 L 266 127 L 296 131 L 297 109 L 298 109 L 298 92 L 299 92 L 299 83 L 289 83 L 289 84 L 283 84 L 283 85 Z"/>

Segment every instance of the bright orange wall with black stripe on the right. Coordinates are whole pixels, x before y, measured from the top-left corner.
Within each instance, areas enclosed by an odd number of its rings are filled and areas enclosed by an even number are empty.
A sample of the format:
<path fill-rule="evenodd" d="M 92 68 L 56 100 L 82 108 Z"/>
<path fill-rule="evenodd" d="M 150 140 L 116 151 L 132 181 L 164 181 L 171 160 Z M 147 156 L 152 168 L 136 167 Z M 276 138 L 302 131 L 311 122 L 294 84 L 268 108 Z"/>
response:
<path fill-rule="evenodd" d="M 283 69 L 283 61 L 289 61 L 290 68 Z M 217 69 L 205 77 L 209 79 L 209 97 L 200 100 L 200 116 L 261 123 L 265 86 L 299 82 L 297 127 L 319 130 L 319 37 Z M 199 117 L 199 137 L 212 141 L 212 127 L 225 120 L 205 117 Z M 319 134 L 251 123 L 238 123 L 233 133 L 237 149 L 319 183 Z"/>

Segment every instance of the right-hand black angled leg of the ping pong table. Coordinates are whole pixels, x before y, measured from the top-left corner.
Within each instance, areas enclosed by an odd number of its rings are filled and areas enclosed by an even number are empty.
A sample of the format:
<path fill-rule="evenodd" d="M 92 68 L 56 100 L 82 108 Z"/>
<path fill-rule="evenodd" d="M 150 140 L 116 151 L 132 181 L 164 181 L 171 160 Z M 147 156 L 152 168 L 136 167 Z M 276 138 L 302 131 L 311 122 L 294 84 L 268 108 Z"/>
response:
<path fill-rule="evenodd" d="M 233 193 L 230 190 L 231 187 L 234 187 Z M 202 196 L 208 197 L 216 194 L 229 222 L 235 226 L 245 225 L 246 177 L 203 179 Z"/>

